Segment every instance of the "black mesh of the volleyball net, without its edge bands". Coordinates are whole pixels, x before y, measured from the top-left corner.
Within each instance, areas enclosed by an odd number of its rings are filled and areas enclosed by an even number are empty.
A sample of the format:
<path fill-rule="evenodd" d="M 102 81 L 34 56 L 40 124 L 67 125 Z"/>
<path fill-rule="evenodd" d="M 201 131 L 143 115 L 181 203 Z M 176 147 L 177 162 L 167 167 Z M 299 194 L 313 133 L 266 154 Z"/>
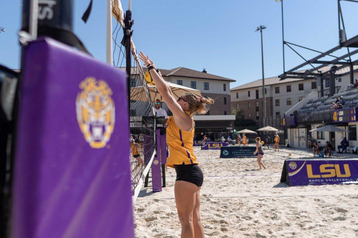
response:
<path fill-rule="evenodd" d="M 116 24 L 112 32 L 113 65 L 120 70 L 126 70 L 125 47 L 121 45 L 123 30 Z M 131 72 L 130 72 L 130 166 L 132 190 L 139 184 L 140 178 L 155 151 L 155 117 L 144 72 L 131 42 Z"/>

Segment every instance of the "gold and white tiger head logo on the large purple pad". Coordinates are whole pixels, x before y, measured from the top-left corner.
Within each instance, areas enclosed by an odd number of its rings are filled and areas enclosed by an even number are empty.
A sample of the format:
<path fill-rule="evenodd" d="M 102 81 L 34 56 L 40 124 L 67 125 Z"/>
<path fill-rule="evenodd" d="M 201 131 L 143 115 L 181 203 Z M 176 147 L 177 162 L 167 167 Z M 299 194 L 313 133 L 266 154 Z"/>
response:
<path fill-rule="evenodd" d="M 89 146 L 100 149 L 110 140 L 115 123 L 112 90 L 103 80 L 87 77 L 79 84 L 76 98 L 79 128 Z"/>

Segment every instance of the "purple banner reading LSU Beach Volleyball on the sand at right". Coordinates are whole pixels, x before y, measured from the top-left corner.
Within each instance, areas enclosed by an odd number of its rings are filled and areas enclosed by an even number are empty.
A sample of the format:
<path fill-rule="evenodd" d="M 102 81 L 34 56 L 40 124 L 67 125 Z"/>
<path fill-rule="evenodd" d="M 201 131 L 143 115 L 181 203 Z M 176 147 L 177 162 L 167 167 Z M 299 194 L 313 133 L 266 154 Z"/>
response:
<path fill-rule="evenodd" d="M 290 186 L 357 181 L 358 159 L 286 159 L 280 180 Z"/>

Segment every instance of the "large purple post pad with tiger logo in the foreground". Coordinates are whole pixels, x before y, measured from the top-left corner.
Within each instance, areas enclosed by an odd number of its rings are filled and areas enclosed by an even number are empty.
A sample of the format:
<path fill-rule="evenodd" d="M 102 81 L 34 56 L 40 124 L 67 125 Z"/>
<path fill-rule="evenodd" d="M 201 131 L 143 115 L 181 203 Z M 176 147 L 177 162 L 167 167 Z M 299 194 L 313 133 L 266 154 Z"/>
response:
<path fill-rule="evenodd" d="M 24 48 L 11 237 L 134 238 L 126 75 L 50 38 Z"/>

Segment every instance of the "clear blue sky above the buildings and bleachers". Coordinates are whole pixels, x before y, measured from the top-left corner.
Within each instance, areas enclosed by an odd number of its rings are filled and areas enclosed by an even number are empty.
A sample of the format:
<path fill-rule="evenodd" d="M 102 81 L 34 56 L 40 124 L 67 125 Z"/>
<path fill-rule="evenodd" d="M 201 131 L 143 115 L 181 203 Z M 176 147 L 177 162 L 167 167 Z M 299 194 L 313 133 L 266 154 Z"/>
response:
<path fill-rule="evenodd" d="M 0 64 L 13 69 L 20 66 L 17 32 L 21 26 L 21 2 L 0 1 L 0 26 L 7 31 L 0 33 Z M 92 13 L 84 24 L 81 16 L 88 3 L 89 0 L 74 0 L 74 33 L 93 56 L 105 61 L 106 1 L 94 0 Z M 350 38 L 358 34 L 358 3 L 341 4 Z M 122 5 L 126 10 L 127 1 Z M 210 74 L 236 80 L 231 87 L 261 79 L 260 33 L 255 30 L 265 25 L 265 77 L 283 71 L 281 4 L 275 0 L 133 0 L 132 18 L 137 50 L 148 54 L 159 68 L 206 68 Z M 284 0 L 284 24 L 286 41 L 319 51 L 333 48 L 338 45 L 337 0 Z M 298 50 L 308 59 L 317 54 Z M 285 60 L 286 70 L 303 62 L 287 46 Z"/>

